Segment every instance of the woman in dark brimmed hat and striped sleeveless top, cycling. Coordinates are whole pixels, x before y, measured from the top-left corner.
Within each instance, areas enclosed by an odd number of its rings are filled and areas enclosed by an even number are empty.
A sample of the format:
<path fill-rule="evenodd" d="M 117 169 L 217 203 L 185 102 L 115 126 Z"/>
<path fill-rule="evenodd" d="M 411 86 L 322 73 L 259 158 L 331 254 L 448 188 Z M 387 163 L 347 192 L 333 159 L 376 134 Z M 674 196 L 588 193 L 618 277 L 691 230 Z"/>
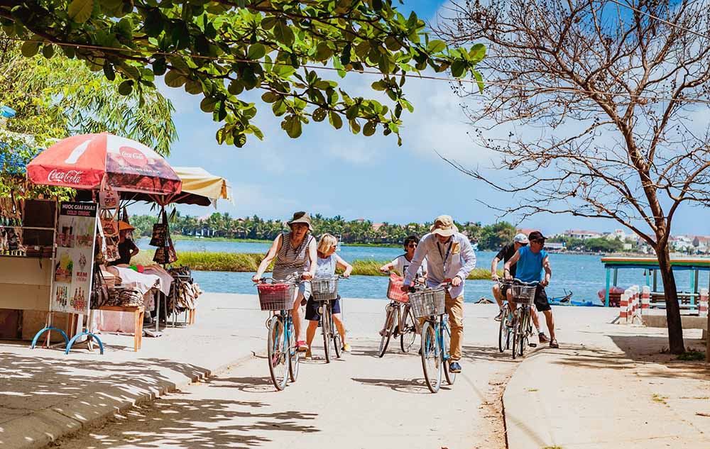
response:
<path fill-rule="evenodd" d="M 308 350 L 305 340 L 303 340 L 304 328 L 303 318 L 300 312 L 301 302 L 304 298 L 310 297 L 311 285 L 309 279 L 313 279 L 317 268 L 317 251 L 315 238 L 310 235 L 313 231 L 310 216 L 305 212 L 296 212 L 291 221 L 288 221 L 291 228 L 289 233 L 280 233 L 271 244 L 266 257 L 259 264 L 256 275 L 251 280 L 259 282 L 266 268 L 271 261 L 276 259 L 273 265 L 271 277 L 276 282 L 297 282 L 303 279 L 304 282 L 298 284 L 293 299 L 293 330 L 296 334 L 296 345 L 299 352 Z"/>

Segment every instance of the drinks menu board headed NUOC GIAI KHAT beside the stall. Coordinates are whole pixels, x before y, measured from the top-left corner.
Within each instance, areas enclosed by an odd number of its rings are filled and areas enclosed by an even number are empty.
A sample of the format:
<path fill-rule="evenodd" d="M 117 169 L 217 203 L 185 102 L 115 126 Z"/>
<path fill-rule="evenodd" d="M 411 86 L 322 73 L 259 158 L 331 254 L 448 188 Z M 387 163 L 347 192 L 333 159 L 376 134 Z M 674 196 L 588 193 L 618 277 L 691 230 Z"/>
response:
<path fill-rule="evenodd" d="M 53 311 L 89 314 L 97 210 L 96 203 L 61 204 L 57 222 Z"/>

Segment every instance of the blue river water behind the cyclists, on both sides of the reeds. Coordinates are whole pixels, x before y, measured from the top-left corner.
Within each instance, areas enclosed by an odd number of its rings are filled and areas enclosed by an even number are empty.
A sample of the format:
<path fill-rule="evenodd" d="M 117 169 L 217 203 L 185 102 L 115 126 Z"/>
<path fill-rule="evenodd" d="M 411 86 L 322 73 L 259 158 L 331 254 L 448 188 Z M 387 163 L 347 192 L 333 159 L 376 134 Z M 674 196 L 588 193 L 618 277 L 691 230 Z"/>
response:
<path fill-rule="evenodd" d="M 147 239 L 138 240 L 141 249 L 152 248 Z M 204 240 L 176 240 L 175 248 L 180 251 L 206 251 L 215 253 L 266 253 L 269 245 L 266 243 L 234 243 Z M 392 260 L 403 251 L 398 248 L 371 248 L 344 245 L 338 253 L 344 260 Z M 491 261 L 496 253 L 491 251 L 476 252 L 476 267 L 491 267 Z M 179 262 L 179 260 L 178 260 Z M 551 298 L 561 297 L 566 292 L 572 292 L 575 301 L 593 301 L 601 304 L 597 292 L 606 284 L 606 270 L 598 255 L 550 254 L 552 265 L 552 282 L 547 287 L 547 295 Z M 502 265 L 499 265 L 502 268 Z M 256 294 L 256 288 L 251 282 L 253 273 L 239 272 L 192 272 L 195 281 L 206 292 L 246 293 Z M 690 272 L 676 272 L 676 282 L 679 291 L 689 291 Z M 629 287 L 632 284 L 645 283 L 644 270 L 620 270 L 618 285 Z M 658 289 L 662 289 L 660 277 Z M 708 279 L 700 279 L 700 286 L 706 287 Z M 339 292 L 345 297 L 384 299 L 387 292 L 387 277 L 352 276 L 342 279 Z M 466 281 L 464 299 L 474 302 L 485 296 L 492 298 L 489 280 Z"/>

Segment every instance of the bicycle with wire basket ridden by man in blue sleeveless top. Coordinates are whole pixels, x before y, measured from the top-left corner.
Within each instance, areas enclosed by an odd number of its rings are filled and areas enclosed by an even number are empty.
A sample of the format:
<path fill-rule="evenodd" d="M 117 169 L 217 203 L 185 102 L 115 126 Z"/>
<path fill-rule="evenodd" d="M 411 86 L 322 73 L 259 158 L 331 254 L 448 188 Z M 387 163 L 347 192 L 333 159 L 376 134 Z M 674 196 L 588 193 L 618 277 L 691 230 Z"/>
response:
<path fill-rule="evenodd" d="M 530 336 L 533 335 L 532 306 L 535 304 L 535 292 L 538 284 L 539 282 L 523 282 L 520 279 L 514 279 L 513 283 L 508 284 L 513 301 L 515 301 L 515 310 L 513 310 L 510 330 L 508 331 L 508 339 L 510 339 L 511 333 L 513 335 L 513 359 L 518 355 L 523 357 L 525 348 L 528 345 L 533 348 L 536 346 L 535 343 L 530 343 Z M 504 317 L 510 316 L 510 306 L 506 304 L 506 307 L 508 311 L 503 315 Z M 508 319 L 501 319 L 501 327 L 503 326 L 503 321 L 508 321 Z M 499 348 L 501 345 L 500 339 L 501 337 L 498 336 Z"/>

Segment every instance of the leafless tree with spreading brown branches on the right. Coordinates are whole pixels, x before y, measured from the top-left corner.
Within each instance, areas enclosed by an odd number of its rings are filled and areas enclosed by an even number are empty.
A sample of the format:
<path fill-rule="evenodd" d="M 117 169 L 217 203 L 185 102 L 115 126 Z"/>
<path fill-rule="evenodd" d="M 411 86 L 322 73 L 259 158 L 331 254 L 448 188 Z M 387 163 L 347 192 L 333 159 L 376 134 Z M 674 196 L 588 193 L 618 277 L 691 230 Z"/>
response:
<path fill-rule="evenodd" d="M 510 192 L 524 216 L 611 218 L 643 238 L 660 265 L 670 351 L 684 352 L 668 240 L 679 206 L 710 204 L 706 1 L 485 3 L 454 2 L 437 31 L 488 47 L 486 95 L 464 111 L 498 157 L 449 162 Z M 492 181 L 501 169 L 513 176 Z"/>

